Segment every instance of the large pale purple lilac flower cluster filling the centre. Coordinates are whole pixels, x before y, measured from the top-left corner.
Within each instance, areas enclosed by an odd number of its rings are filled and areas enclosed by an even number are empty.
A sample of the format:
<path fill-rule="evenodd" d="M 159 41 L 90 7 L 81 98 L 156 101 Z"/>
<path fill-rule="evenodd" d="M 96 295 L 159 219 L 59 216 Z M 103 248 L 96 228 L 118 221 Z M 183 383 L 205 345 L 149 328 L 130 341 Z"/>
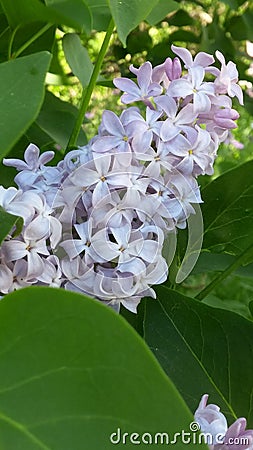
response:
<path fill-rule="evenodd" d="M 167 278 L 165 237 L 184 228 L 201 202 L 196 178 L 211 175 L 219 144 L 239 117 L 242 104 L 236 66 L 185 49 L 154 68 L 130 67 L 137 82 L 118 78 L 118 117 L 104 111 L 88 145 L 54 156 L 30 144 L 14 166 L 18 188 L 0 187 L 0 206 L 24 219 L 19 236 L 0 247 L 0 293 L 29 285 L 63 287 L 131 311 L 152 285 Z M 180 62 L 180 59 L 183 62 Z M 205 76 L 209 81 L 205 81 Z M 144 112 L 143 112 L 144 111 Z"/>

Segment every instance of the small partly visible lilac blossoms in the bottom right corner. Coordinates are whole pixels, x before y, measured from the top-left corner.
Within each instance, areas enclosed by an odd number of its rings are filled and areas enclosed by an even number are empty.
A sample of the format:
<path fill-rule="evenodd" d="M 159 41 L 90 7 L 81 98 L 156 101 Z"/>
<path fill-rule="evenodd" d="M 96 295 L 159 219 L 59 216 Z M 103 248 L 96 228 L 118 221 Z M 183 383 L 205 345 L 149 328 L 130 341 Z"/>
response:
<path fill-rule="evenodd" d="M 253 430 L 246 430 L 247 420 L 237 419 L 230 427 L 217 405 L 207 405 L 208 394 L 202 396 L 194 418 L 206 436 L 210 450 L 252 450 Z"/>

